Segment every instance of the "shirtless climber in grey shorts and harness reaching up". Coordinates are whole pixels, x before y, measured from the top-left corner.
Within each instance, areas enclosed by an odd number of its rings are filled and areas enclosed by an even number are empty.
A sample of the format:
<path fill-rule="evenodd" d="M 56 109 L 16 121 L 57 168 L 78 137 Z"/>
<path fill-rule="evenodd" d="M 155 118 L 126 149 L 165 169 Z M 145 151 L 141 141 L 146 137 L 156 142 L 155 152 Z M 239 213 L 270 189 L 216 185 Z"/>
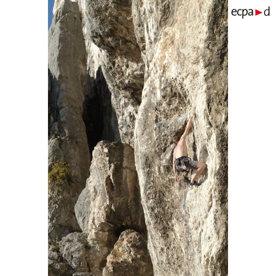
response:
<path fill-rule="evenodd" d="M 181 171 L 184 172 L 185 182 L 187 182 L 189 185 L 199 186 L 200 184 L 197 183 L 197 179 L 203 173 L 204 169 L 206 168 L 206 164 L 190 160 L 190 158 L 187 157 L 188 150 L 185 139 L 191 127 L 191 121 L 192 117 L 190 117 L 186 125 L 184 134 L 181 138 L 177 136 L 173 138 L 173 142 L 176 144 L 176 147 L 174 149 L 173 168 L 176 177 L 176 182 L 179 182 L 178 171 Z M 189 169 L 196 170 L 196 174 L 191 178 L 191 181 L 189 181 L 188 179 Z"/>

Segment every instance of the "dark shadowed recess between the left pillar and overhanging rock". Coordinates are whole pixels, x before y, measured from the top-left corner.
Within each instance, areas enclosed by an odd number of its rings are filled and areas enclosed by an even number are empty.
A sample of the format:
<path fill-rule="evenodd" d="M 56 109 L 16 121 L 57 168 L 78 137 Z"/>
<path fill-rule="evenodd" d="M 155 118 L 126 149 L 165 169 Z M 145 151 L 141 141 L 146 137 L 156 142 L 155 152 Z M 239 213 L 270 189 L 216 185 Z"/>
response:
<path fill-rule="evenodd" d="M 91 154 L 100 140 L 121 141 L 117 116 L 111 104 L 111 93 L 101 66 L 96 72 L 96 78 L 88 75 L 88 89 L 83 107 L 83 120 Z"/>

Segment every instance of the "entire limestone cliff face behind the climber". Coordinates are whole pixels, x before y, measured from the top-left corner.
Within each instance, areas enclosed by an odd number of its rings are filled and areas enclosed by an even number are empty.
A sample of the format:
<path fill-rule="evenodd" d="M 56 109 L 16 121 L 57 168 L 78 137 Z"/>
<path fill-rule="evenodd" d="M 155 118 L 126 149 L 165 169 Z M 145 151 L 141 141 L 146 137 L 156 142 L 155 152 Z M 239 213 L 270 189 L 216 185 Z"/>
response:
<path fill-rule="evenodd" d="M 52 275 L 228 274 L 227 10 L 224 0 L 55 1 L 49 159 L 78 177 L 64 184 L 68 209 L 49 201 Z M 188 155 L 207 164 L 199 187 L 172 170 L 172 138 L 191 115 Z"/>

